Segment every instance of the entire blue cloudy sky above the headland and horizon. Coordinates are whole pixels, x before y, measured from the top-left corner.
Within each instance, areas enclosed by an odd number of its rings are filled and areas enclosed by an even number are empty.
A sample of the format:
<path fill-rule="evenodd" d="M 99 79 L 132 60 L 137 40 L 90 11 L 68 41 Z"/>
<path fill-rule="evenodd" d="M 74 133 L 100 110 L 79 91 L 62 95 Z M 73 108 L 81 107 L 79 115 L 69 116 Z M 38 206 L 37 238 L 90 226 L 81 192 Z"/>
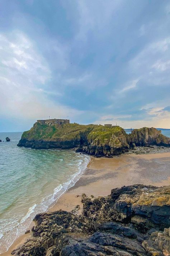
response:
<path fill-rule="evenodd" d="M 170 128 L 170 1 L 1 0 L 0 131 Z"/>

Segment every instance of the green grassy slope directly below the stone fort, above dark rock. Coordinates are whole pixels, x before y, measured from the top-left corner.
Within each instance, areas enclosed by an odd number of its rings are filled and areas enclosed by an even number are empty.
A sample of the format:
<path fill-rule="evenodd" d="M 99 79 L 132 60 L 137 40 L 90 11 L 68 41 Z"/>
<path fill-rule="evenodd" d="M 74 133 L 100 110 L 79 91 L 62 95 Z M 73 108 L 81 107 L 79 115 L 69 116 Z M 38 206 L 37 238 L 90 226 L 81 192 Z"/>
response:
<path fill-rule="evenodd" d="M 72 140 L 80 139 L 80 136 L 88 135 L 96 125 L 79 125 L 67 123 L 58 126 L 46 126 L 34 123 L 29 131 L 24 131 L 22 139 L 29 140 Z"/>

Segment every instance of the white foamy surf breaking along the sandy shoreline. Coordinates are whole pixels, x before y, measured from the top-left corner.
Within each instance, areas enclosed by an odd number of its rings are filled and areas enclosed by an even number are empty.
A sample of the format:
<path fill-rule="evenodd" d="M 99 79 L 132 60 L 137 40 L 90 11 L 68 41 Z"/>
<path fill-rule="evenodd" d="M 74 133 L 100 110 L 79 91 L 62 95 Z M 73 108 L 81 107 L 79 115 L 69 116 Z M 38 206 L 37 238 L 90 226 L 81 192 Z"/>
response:
<path fill-rule="evenodd" d="M 54 203 L 57 202 L 58 198 L 65 193 L 69 188 L 74 186 L 77 180 L 79 180 L 81 174 L 86 169 L 90 157 L 86 155 L 81 155 L 81 160 L 79 154 L 72 152 L 72 154 L 75 154 L 75 157 L 79 159 L 74 159 L 74 166 L 77 171 L 75 174 L 72 174 L 66 182 L 59 184 L 56 188 L 53 189 L 53 193 L 49 194 L 48 196 L 44 197 L 39 204 L 34 204 L 33 206 L 29 207 L 27 214 L 24 216 L 18 216 L 16 219 L 6 219 L 2 220 L 2 226 L 1 226 L 1 233 L 7 232 L 8 237 L 2 236 L 0 237 L 0 244 L 3 245 L 1 250 L 5 251 L 8 250 L 8 248 L 11 246 L 11 244 L 15 241 L 15 239 L 23 234 L 29 227 L 31 221 L 36 216 L 36 214 L 40 212 L 45 212 L 47 209 L 52 206 Z M 67 154 L 66 154 L 67 155 Z M 58 159 L 59 161 L 63 161 L 62 158 Z M 20 219 L 20 221 L 19 221 Z M 6 249 L 4 247 L 4 244 L 6 246 Z"/>

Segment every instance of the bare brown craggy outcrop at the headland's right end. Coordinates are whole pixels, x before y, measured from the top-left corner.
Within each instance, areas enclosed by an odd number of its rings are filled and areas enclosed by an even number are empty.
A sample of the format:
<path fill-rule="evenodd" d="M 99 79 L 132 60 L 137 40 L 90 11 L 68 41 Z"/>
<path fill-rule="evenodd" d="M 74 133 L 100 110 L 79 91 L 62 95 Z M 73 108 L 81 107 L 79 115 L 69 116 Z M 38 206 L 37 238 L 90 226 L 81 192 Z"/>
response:
<path fill-rule="evenodd" d="M 162 135 L 161 131 L 158 131 L 154 127 L 143 127 L 141 129 L 134 129 L 132 133 L 129 134 L 129 142 L 130 144 L 135 143 L 136 146 L 170 146 L 170 138 Z"/>

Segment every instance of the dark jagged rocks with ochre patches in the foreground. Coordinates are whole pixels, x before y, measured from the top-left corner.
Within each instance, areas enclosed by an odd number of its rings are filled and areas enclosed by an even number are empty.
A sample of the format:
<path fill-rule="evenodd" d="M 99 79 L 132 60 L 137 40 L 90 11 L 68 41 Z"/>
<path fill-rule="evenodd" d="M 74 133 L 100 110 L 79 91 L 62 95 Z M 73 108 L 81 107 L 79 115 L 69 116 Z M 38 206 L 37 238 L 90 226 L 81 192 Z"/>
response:
<path fill-rule="evenodd" d="M 170 255 L 170 186 L 133 185 L 88 198 L 81 215 L 36 215 L 32 237 L 15 256 Z"/>

